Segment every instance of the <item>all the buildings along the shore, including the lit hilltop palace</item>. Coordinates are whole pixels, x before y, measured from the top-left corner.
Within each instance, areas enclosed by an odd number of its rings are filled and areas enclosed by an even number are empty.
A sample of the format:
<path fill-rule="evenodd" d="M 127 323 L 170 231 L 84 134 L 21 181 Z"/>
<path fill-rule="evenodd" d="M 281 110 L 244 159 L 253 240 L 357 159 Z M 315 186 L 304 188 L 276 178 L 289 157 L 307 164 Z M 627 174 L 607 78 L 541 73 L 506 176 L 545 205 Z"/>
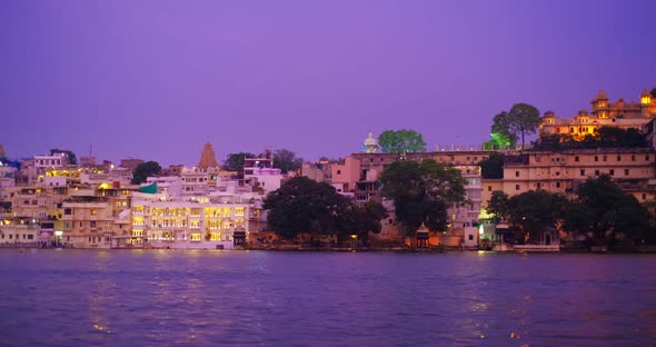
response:
<path fill-rule="evenodd" d="M 602 126 L 639 129 L 654 138 L 656 100 L 609 102 L 600 91 L 588 115 L 570 119 L 547 111 L 543 135 L 568 133 L 580 139 Z M 0 146 L 0 158 L 6 157 Z M 648 148 L 598 148 L 559 151 L 506 150 L 503 178 L 484 178 L 479 162 L 493 151 L 480 148 L 436 149 L 433 152 L 384 153 L 369 132 L 360 152 L 339 162 L 306 162 L 282 175 L 272 153 L 245 159 L 240 172 L 226 171 L 212 146 L 205 145 L 196 167 L 170 166 L 145 184 L 132 185 L 140 159 L 120 163 L 82 157 L 71 165 L 66 152 L 0 162 L 0 246 L 66 245 L 76 248 L 211 248 L 229 249 L 258 242 L 267 231 L 266 195 L 291 175 L 326 181 L 357 204 L 371 199 L 388 209 L 374 241 L 402 242 L 391 201 L 380 196 L 380 174 L 398 160 L 434 159 L 454 165 L 467 180 L 468 204 L 448 210 L 446 230 L 418 232 L 426 245 L 476 247 L 494 238 L 485 212 L 493 191 L 508 196 L 544 189 L 574 197 L 588 178 L 608 175 L 639 201 L 656 197 L 656 152 Z M 558 236 L 554 236 L 557 239 Z"/>

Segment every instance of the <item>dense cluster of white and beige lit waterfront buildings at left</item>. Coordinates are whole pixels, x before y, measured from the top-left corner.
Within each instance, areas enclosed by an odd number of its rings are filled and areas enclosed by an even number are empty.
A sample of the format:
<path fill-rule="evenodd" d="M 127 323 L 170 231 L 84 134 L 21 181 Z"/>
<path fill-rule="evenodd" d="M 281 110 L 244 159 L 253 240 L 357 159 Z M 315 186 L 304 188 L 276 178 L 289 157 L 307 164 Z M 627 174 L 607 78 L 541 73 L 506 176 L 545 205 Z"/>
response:
<path fill-rule="evenodd" d="M 264 231 L 262 200 L 280 187 L 270 151 L 225 171 L 207 143 L 198 166 L 132 185 L 141 163 L 71 165 L 63 152 L 0 167 L 0 246 L 230 249 Z"/>

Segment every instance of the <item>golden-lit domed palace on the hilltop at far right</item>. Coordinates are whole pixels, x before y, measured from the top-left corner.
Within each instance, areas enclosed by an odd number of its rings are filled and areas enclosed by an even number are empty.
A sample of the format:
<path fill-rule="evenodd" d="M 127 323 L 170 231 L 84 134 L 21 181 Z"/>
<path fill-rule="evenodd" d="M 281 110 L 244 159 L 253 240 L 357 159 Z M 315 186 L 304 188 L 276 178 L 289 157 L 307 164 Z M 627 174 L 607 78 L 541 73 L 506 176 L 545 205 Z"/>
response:
<path fill-rule="evenodd" d="M 553 111 L 546 111 L 540 125 L 540 135 L 570 135 L 580 140 L 586 135 L 595 133 L 603 126 L 622 129 L 642 129 L 656 118 L 656 98 L 646 89 L 640 93 L 640 101 L 625 102 L 618 99 L 610 102 L 604 90 L 590 101 L 592 111 L 582 109 L 575 117 L 558 118 Z"/>

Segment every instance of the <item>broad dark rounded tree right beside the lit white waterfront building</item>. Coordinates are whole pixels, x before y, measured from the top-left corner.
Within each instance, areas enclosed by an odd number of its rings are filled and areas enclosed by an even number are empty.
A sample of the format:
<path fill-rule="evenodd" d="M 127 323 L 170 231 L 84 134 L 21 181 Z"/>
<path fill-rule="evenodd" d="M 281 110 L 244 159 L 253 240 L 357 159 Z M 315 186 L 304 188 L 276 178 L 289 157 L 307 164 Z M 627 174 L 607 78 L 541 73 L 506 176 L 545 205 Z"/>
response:
<path fill-rule="evenodd" d="M 264 205 L 264 209 L 269 211 L 269 229 L 286 239 L 294 239 L 302 232 L 341 232 L 350 207 L 350 200 L 332 186 L 304 176 L 294 177 L 271 191 Z"/>

